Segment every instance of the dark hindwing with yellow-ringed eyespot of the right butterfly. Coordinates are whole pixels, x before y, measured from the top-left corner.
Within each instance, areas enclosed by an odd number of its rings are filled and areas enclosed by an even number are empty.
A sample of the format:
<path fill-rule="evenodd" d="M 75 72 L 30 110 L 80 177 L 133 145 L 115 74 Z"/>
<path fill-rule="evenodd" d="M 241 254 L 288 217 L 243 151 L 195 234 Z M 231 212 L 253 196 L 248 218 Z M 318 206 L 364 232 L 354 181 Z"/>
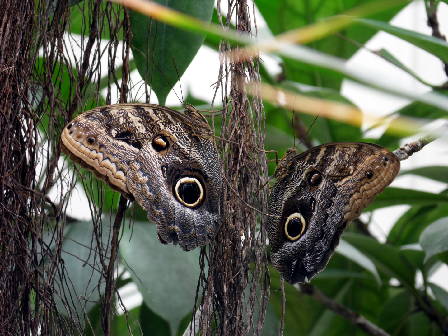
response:
<path fill-rule="evenodd" d="M 268 205 L 271 261 L 291 284 L 324 268 L 344 214 L 330 179 L 304 161 L 293 166 L 293 173 L 276 181 Z"/>

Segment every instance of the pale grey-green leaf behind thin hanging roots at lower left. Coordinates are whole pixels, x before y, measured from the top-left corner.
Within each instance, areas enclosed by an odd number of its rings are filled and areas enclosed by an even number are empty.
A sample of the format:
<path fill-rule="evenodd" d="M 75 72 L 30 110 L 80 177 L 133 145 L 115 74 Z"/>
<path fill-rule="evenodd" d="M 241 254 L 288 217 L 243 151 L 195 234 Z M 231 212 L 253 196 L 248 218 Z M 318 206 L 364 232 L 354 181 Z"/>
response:
<path fill-rule="evenodd" d="M 98 254 L 90 250 L 91 244 L 95 249 L 95 240 L 92 240 L 93 224 L 92 222 L 67 224 L 64 235 L 61 257 L 64 260 L 63 268 L 66 275 L 58 280 L 64 284 L 64 292 L 59 287 L 55 288 L 58 310 L 62 314 L 67 314 L 60 295 L 65 297 L 66 303 L 72 309 L 70 314 L 74 311 L 78 314 L 82 314 L 83 311 L 88 313 L 95 306 L 95 302 L 99 302 L 98 281 L 101 275 L 98 269 L 102 268 L 99 265 Z M 106 239 L 107 237 L 104 237 L 104 240 Z M 101 293 L 104 291 L 104 286 L 103 282 Z"/>

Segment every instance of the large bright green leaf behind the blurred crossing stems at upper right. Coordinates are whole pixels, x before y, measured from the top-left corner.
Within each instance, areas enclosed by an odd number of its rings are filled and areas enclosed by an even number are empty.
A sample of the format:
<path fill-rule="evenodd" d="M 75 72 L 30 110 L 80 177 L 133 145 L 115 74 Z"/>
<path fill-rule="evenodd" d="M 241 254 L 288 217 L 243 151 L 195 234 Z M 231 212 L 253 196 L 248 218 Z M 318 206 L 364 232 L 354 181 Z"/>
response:
<path fill-rule="evenodd" d="M 338 2 L 334 0 L 256 0 L 258 9 L 266 20 L 272 33 L 280 34 L 288 30 L 303 27 L 325 18 L 353 9 L 359 4 L 370 1 L 353 0 Z M 388 22 L 398 13 L 404 5 L 376 13 L 372 18 Z M 358 43 L 366 43 L 376 31 L 370 28 L 360 29 L 359 24 L 352 24 L 340 30 L 340 34 L 353 39 Z M 310 43 L 310 46 L 331 55 L 349 59 L 359 47 L 349 40 L 331 34 L 323 39 Z M 313 86 L 331 87 L 339 90 L 344 78 L 332 70 L 308 65 L 299 61 L 284 59 L 286 78 Z"/>

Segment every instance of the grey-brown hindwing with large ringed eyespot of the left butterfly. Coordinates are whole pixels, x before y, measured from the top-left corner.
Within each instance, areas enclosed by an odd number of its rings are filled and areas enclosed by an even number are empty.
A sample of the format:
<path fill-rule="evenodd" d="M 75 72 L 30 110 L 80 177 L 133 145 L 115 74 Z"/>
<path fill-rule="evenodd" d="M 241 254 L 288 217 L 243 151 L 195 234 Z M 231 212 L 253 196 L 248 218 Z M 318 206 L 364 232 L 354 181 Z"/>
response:
<path fill-rule="evenodd" d="M 155 134 L 136 155 L 128 188 L 157 224 L 159 240 L 192 250 L 215 236 L 222 175 L 213 143 L 181 126 Z"/>

